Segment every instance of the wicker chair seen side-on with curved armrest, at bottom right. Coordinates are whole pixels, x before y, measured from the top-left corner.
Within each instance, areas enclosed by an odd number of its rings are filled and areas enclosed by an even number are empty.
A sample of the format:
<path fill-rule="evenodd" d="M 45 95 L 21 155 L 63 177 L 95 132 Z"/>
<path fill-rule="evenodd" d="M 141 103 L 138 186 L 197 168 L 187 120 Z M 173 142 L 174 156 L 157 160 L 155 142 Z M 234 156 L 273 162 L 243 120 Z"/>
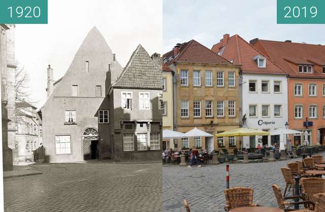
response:
<path fill-rule="evenodd" d="M 292 208 L 289 208 L 289 207 L 292 207 L 295 204 L 304 204 L 305 208 L 310 208 L 310 206 L 313 206 L 313 202 L 305 201 L 303 196 L 283 197 L 282 192 L 281 192 L 280 188 L 277 185 L 275 185 L 275 184 L 272 185 L 272 188 L 273 188 L 273 192 L 274 192 L 276 201 L 278 202 L 279 208 L 284 210 L 284 211 L 293 210 Z M 289 199 L 296 199 L 296 198 L 299 198 L 299 199 L 301 199 L 303 201 L 299 201 L 299 202 L 295 202 L 295 203 L 286 201 L 286 200 L 289 200 Z"/>

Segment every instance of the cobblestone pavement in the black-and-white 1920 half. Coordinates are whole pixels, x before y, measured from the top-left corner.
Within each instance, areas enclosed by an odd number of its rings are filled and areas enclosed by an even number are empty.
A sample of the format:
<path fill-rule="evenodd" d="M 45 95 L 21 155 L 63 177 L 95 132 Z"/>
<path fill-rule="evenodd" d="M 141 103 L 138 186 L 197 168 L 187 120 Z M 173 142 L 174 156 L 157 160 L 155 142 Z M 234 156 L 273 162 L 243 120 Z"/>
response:
<path fill-rule="evenodd" d="M 42 164 L 4 179 L 5 211 L 161 211 L 161 164 Z"/>

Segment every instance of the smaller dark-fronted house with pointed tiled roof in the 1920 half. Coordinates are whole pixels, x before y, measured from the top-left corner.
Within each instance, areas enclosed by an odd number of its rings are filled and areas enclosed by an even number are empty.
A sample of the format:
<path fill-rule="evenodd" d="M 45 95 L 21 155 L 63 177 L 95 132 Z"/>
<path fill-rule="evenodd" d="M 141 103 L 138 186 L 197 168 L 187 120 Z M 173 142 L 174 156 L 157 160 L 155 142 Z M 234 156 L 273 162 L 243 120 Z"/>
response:
<path fill-rule="evenodd" d="M 159 55 L 139 45 L 108 92 L 111 158 L 161 160 L 163 125 Z"/>

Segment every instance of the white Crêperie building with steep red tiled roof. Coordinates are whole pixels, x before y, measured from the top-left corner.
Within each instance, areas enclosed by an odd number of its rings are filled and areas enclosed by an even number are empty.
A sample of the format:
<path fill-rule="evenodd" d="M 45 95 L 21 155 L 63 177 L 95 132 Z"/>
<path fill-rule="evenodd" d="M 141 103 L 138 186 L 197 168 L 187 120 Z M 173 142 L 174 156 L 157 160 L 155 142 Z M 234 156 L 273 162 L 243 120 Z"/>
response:
<path fill-rule="evenodd" d="M 248 128 L 271 131 L 285 127 L 287 73 L 239 35 L 225 34 L 212 51 L 241 65 L 242 111 Z M 244 120 L 243 119 L 243 120 Z M 279 136 L 244 136 L 243 147 L 279 145 Z"/>

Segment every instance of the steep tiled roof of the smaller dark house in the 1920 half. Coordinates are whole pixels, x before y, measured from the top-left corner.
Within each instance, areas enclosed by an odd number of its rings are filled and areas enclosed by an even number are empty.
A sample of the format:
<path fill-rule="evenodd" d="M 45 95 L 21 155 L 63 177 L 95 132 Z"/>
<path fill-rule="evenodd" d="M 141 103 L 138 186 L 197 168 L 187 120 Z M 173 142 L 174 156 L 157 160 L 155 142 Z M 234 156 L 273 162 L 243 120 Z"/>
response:
<path fill-rule="evenodd" d="M 163 89 L 161 84 L 162 68 L 149 56 L 139 44 L 133 52 L 121 75 L 112 87 Z"/>

